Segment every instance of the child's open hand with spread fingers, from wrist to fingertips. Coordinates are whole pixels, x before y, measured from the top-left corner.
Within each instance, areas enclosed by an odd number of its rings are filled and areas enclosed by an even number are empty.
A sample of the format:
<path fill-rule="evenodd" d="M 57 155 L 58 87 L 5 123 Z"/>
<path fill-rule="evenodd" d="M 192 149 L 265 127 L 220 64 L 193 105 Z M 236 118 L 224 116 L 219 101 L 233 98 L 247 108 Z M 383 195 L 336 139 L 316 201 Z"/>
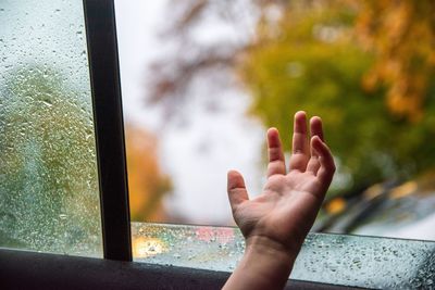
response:
<path fill-rule="evenodd" d="M 228 174 L 234 218 L 244 236 L 262 236 L 285 247 L 301 243 L 311 228 L 334 173 L 320 118 L 311 121 L 311 146 L 304 113 L 295 116 L 293 156 L 287 173 L 276 129 L 268 133 L 268 181 L 263 192 L 249 200 L 241 175 Z"/>

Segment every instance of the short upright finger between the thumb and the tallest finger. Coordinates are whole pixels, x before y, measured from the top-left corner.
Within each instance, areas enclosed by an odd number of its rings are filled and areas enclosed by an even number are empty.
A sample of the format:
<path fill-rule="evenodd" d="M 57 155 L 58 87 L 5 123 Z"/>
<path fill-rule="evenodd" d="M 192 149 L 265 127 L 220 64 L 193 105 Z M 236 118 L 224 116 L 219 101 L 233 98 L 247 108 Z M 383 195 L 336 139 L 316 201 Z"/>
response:
<path fill-rule="evenodd" d="M 276 128 L 268 130 L 268 177 L 275 174 L 286 174 L 283 147 L 279 140 L 279 133 Z"/>

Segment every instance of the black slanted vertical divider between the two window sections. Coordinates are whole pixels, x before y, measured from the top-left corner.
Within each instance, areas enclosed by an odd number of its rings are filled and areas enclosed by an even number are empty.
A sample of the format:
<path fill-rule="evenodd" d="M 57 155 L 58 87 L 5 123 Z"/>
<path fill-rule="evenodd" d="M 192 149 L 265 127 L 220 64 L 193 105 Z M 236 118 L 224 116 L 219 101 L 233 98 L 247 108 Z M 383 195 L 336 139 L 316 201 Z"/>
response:
<path fill-rule="evenodd" d="M 104 259 L 132 261 L 113 0 L 83 0 L 92 91 Z M 77 168 L 79 169 L 79 168 Z"/>

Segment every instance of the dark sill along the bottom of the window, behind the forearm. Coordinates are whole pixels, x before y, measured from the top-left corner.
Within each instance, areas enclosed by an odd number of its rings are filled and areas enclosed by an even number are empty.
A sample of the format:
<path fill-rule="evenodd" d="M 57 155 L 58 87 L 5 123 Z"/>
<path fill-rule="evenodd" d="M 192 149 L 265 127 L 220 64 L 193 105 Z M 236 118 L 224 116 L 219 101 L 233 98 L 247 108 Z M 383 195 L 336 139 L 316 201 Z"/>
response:
<path fill-rule="evenodd" d="M 4 289 L 221 289 L 229 273 L 0 249 Z M 286 289 L 337 289 L 289 280 Z M 338 289 L 355 289 L 338 287 Z"/>

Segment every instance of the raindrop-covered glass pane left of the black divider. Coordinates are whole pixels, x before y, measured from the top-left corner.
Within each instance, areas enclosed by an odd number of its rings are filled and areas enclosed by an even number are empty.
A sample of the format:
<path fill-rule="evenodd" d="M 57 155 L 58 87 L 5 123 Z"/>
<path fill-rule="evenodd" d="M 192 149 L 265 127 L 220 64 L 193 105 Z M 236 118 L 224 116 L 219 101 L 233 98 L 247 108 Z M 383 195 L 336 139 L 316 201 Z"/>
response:
<path fill-rule="evenodd" d="M 102 256 L 82 1 L 0 2 L 0 247 Z"/>

